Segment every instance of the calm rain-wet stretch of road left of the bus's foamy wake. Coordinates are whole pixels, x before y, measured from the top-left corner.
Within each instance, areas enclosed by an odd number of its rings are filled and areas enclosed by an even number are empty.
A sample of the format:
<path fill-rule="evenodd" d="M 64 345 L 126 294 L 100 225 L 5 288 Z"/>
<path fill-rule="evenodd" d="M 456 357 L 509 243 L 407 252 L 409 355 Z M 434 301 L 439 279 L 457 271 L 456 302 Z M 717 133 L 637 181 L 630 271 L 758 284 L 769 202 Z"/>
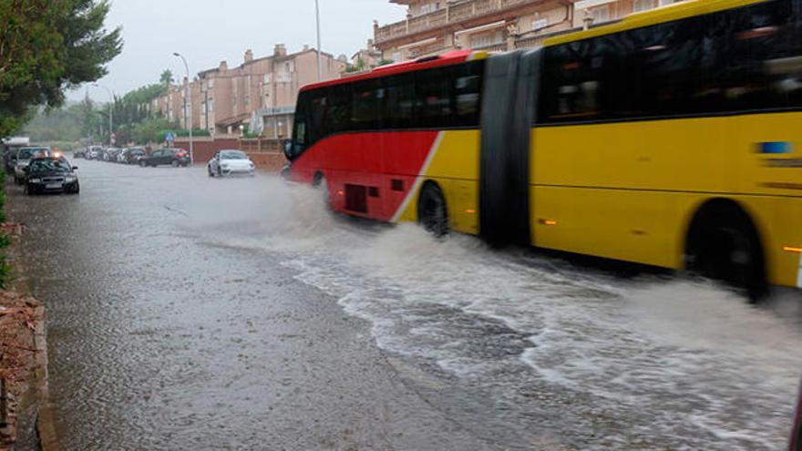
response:
<path fill-rule="evenodd" d="M 75 163 L 79 196 L 9 189 L 64 449 L 495 447 L 417 395 L 364 321 L 270 255 L 186 229 L 186 199 L 208 194 L 206 227 L 236 236 L 217 202 L 259 209 L 263 177 Z"/>

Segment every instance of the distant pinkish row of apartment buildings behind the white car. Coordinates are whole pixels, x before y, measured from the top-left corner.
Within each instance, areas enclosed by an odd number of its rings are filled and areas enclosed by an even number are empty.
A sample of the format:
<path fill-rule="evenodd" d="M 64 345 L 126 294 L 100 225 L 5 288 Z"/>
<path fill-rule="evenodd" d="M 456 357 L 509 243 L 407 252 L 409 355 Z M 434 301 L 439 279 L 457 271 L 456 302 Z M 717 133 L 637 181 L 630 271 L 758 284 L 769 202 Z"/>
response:
<path fill-rule="evenodd" d="M 324 80 L 340 77 L 346 63 L 326 53 L 321 55 Z M 317 51 L 304 46 L 288 54 L 286 46 L 278 44 L 271 56 L 254 58 L 252 50 L 245 52 L 242 64 L 219 67 L 200 72 L 192 82 L 193 121 L 214 135 L 235 135 L 240 126 L 249 125 L 252 131 L 289 136 L 292 114 L 298 92 L 304 85 L 318 80 Z M 194 115 L 197 114 L 197 117 Z"/>

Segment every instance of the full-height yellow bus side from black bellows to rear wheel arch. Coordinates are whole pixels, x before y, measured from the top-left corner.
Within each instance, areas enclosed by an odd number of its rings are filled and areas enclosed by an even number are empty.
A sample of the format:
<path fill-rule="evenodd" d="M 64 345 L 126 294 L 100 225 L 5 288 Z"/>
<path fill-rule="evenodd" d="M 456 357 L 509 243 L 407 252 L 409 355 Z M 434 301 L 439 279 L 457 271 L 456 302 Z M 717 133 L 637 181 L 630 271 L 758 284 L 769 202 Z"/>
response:
<path fill-rule="evenodd" d="M 702 191 L 731 184 L 725 130 L 725 118 L 535 128 L 533 243 L 682 267 L 680 235 Z"/>

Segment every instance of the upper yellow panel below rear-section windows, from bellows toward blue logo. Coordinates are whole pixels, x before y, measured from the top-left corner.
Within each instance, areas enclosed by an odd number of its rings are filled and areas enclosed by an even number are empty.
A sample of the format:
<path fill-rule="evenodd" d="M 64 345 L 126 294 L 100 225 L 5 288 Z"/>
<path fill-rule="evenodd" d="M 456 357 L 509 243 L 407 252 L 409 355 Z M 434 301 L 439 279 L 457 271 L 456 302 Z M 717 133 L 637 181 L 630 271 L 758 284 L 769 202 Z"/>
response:
<path fill-rule="evenodd" d="M 726 118 L 535 128 L 538 185 L 726 190 Z"/>

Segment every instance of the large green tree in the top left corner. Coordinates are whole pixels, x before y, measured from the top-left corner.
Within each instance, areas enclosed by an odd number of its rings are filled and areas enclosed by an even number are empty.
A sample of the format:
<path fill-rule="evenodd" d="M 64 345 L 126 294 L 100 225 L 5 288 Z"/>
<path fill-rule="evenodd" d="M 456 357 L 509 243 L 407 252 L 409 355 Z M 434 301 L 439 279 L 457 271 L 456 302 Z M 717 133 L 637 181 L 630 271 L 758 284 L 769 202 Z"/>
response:
<path fill-rule="evenodd" d="M 64 91 L 98 80 L 122 49 L 108 31 L 106 0 L 0 0 L 0 136 L 38 105 L 57 107 Z"/>

